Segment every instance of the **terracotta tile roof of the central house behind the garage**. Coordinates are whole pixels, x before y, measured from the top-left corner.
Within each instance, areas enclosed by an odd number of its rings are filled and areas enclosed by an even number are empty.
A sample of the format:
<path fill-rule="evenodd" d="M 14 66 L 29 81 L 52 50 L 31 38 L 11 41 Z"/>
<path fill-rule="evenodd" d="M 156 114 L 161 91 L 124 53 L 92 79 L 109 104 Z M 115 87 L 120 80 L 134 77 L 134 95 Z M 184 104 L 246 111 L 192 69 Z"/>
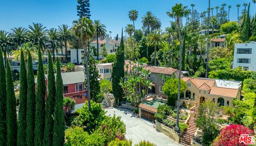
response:
<path fill-rule="evenodd" d="M 149 70 L 151 73 L 155 74 L 164 74 L 164 75 L 172 75 L 174 72 L 179 71 L 178 69 L 174 68 L 165 68 L 165 67 L 146 67 L 146 70 Z"/>

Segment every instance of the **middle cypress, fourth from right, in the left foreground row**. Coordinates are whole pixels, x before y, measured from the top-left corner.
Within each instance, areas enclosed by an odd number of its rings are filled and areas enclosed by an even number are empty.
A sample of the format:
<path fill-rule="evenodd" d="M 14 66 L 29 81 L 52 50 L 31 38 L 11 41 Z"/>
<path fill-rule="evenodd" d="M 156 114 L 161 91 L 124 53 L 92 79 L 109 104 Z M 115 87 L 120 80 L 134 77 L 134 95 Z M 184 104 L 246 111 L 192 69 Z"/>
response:
<path fill-rule="evenodd" d="M 27 74 L 27 128 L 26 143 L 28 146 L 34 145 L 35 130 L 35 109 L 36 109 L 36 93 L 35 93 L 35 77 L 32 64 L 31 54 L 28 53 L 28 74 Z"/>

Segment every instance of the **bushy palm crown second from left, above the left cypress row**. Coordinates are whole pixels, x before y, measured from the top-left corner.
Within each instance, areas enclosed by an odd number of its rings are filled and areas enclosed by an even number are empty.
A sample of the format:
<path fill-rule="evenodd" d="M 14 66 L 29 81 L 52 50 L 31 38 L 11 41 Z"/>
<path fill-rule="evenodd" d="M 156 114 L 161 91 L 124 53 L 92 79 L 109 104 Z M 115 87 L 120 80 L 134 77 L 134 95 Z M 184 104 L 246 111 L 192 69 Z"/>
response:
<path fill-rule="evenodd" d="M 12 28 L 10 35 L 12 38 L 12 42 L 16 46 L 16 48 L 19 45 L 26 43 L 28 41 L 27 29 L 25 28 L 22 28 L 22 27 Z"/>

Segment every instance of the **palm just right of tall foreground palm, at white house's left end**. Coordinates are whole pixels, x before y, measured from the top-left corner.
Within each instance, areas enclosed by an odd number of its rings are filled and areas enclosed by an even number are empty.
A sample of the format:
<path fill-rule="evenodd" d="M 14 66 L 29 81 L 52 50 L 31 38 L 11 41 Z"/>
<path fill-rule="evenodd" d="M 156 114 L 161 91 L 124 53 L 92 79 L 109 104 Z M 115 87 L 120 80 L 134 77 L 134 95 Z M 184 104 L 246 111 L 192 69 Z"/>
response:
<path fill-rule="evenodd" d="M 103 25 L 100 20 L 94 20 L 94 28 L 97 39 L 97 60 L 99 60 L 99 38 L 103 39 L 106 36 L 106 26 Z"/>

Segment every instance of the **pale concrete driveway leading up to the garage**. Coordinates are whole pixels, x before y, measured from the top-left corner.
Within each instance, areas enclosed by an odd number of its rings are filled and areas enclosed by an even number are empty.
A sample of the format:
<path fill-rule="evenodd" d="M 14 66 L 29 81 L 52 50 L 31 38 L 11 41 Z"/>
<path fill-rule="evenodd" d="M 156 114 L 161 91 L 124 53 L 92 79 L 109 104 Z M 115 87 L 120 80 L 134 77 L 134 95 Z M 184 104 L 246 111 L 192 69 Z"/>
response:
<path fill-rule="evenodd" d="M 170 137 L 161 132 L 157 132 L 154 128 L 155 124 L 150 121 L 136 118 L 132 111 L 122 108 L 105 109 L 108 116 L 121 116 L 126 125 L 126 139 L 132 139 L 132 144 L 137 144 L 141 140 L 146 140 L 155 143 L 157 146 L 181 145 Z"/>

